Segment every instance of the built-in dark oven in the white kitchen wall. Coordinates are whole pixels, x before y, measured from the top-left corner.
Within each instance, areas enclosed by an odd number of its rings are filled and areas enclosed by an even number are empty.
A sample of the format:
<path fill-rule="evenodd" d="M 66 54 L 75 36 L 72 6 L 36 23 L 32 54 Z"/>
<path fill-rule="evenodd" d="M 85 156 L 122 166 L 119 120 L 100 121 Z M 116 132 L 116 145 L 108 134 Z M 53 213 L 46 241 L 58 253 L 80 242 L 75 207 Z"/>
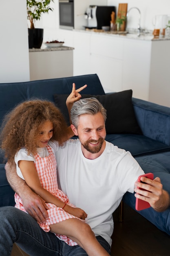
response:
<path fill-rule="evenodd" d="M 59 16 L 61 29 L 74 28 L 74 1 L 59 0 Z"/>

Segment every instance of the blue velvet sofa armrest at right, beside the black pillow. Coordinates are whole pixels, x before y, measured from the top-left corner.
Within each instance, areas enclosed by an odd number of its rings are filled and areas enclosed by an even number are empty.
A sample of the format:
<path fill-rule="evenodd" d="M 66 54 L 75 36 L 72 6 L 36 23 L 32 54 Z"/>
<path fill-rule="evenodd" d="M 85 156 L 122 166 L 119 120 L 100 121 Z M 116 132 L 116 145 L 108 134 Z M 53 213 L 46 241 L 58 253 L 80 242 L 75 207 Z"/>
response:
<path fill-rule="evenodd" d="M 170 108 L 136 98 L 132 104 L 143 134 L 170 146 Z"/>

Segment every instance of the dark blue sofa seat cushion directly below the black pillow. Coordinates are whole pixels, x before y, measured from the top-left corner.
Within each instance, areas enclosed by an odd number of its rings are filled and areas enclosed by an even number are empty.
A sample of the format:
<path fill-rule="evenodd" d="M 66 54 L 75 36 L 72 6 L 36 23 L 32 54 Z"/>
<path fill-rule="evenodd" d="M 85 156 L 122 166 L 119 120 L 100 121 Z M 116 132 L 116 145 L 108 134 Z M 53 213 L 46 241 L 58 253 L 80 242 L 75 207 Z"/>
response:
<path fill-rule="evenodd" d="M 144 135 L 107 134 L 106 140 L 119 148 L 130 151 L 133 157 L 170 151 L 170 146 Z"/>

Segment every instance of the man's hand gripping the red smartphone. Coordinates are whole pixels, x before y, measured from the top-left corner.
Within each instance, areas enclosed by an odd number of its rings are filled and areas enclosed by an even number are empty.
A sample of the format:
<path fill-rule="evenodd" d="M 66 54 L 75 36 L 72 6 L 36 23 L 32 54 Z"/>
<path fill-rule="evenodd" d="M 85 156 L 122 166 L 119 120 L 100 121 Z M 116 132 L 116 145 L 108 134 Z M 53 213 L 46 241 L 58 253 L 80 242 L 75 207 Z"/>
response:
<path fill-rule="evenodd" d="M 146 184 L 135 182 L 135 197 L 148 202 L 155 211 L 165 211 L 170 206 L 170 196 L 167 191 L 163 190 L 160 178 L 150 180 L 141 177 L 141 181 Z"/>

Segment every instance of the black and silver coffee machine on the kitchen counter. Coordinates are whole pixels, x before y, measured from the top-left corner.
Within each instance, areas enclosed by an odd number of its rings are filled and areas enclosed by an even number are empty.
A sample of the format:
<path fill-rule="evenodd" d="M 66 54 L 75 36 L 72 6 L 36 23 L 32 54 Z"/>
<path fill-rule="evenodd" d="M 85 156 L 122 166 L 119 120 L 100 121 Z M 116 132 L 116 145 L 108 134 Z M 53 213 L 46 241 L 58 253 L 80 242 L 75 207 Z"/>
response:
<path fill-rule="evenodd" d="M 88 29 L 102 29 L 103 26 L 110 26 L 112 11 L 116 13 L 115 6 L 90 5 L 84 13 Z"/>

